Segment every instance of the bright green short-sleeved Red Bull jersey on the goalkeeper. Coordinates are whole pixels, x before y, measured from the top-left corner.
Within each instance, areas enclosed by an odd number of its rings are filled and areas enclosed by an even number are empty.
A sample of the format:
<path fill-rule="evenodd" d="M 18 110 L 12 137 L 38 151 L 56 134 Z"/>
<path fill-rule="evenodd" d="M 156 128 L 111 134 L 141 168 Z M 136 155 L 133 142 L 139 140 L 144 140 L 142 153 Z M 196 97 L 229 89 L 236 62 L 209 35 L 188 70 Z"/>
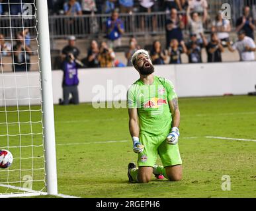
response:
<path fill-rule="evenodd" d="M 128 108 L 137 108 L 140 133 L 149 136 L 168 134 L 171 111 L 168 101 L 177 98 L 171 81 L 154 76 L 153 84 L 137 80 L 127 92 Z"/>

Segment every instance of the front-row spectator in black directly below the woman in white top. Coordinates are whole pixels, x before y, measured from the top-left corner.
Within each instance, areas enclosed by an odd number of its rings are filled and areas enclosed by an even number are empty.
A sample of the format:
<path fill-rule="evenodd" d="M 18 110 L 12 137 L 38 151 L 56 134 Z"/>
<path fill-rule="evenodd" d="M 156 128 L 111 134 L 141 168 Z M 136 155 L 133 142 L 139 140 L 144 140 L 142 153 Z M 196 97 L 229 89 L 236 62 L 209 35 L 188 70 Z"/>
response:
<path fill-rule="evenodd" d="M 207 42 L 203 34 L 201 34 L 201 36 L 204 42 L 204 47 L 206 47 L 207 62 L 221 62 L 224 47 L 222 46 L 221 41 L 218 39 L 216 32 L 213 32 L 210 35 L 210 42 Z"/>

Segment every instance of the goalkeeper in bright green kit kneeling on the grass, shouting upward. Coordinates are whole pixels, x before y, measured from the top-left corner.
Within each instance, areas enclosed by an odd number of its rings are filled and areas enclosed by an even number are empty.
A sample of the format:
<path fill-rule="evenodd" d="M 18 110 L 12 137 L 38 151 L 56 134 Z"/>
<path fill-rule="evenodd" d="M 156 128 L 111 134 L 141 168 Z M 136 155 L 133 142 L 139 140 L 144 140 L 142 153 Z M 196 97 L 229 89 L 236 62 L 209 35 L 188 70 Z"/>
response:
<path fill-rule="evenodd" d="M 182 177 L 182 161 L 178 138 L 180 113 L 173 84 L 154 76 L 148 51 L 140 49 L 132 56 L 132 64 L 140 74 L 127 93 L 129 129 L 133 150 L 138 153 L 138 168 L 128 164 L 130 182 L 148 183 L 152 173 L 169 181 Z M 157 156 L 163 166 L 155 165 Z"/>

